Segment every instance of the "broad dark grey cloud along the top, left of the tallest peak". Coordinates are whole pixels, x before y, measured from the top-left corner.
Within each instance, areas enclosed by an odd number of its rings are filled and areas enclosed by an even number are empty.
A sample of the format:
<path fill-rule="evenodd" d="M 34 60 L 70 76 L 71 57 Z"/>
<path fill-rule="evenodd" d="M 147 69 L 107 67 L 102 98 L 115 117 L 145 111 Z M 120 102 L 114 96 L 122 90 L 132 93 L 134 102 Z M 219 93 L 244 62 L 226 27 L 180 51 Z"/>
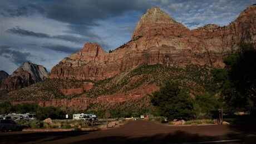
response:
<path fill-rule="evenodd" d="M 47 17 L 71 24 L 93 25 L 96 20 L 122 16 L 127 11 L 145 12 L 149 3 L 145 1 L 120 0 L 67 0 L 53 2 Z"/>

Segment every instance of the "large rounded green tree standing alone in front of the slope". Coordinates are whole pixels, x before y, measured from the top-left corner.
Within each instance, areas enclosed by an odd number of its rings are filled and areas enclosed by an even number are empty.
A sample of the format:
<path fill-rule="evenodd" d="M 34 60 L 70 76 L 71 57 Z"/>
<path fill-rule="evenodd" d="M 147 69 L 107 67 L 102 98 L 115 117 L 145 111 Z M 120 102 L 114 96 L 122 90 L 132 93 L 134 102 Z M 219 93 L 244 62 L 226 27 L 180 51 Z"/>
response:
<path fill-rule="evenodd" d="M 168 81 L 159 91 L 151 96 L 151 102 L 159 108 L 160 115 L 188 120 L 193 117 L 193 99 L 183 90 L 177 82 Z"/>

